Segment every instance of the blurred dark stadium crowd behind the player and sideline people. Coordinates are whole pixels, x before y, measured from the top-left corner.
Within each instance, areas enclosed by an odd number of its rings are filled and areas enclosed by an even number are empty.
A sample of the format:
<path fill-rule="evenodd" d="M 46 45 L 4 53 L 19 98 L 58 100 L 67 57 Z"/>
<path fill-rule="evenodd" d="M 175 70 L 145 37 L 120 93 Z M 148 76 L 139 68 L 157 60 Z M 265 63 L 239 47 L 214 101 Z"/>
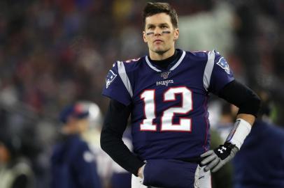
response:
<path fill-rule="evenodd" d="M 145 2 L 0 1 L 0 132 L 11 143 L 20 140 L 34 187 L 50 187 L 62 108 L 87 100 L 104 114 L 108 99 L 101 91 L 113 62 L 148 53 L 142 40 Z M 164 2 L 179 16 L 177 47 L 216 49 L 236 79 L 271 93 L 271 120 L 284 126 L 284 1 Z M 214 125 L 221 104 L 214 97 L 211 102 Z"/>

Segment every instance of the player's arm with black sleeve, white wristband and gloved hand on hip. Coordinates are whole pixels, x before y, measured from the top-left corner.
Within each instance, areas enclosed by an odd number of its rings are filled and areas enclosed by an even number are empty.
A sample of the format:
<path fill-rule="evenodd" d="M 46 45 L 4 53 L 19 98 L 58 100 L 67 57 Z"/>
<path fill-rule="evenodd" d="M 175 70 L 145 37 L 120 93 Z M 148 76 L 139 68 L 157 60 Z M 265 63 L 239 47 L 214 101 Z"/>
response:
<path fill-rule="evenodd" d="M 246 136 L 250 133 L 251 126 L 255 122 L 257 112 L 260 109 L 260 97 L 250 88 L 237 81 L 231 81 L 222 88 L 219 97 L 239 107 L 239 112 L 234 128 L 228 135 L 224 145 L 220 145 L 215 150 L 209 150 L 201 155 L 204 158 L 201 165 L 206 166 L 204 170 L 213 169 L 212 172 L 218 171 L 236 155 Z"/>

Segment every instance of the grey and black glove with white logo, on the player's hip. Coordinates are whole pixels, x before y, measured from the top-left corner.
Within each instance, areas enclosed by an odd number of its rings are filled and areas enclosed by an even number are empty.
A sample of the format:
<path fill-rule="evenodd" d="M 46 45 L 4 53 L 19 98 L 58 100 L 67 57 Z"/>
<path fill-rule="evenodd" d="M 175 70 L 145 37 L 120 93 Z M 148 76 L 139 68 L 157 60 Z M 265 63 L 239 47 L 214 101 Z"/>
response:
<path fill-rule="evenodd" d="M 215 150 L 208 150 L 201 155 L 203 158 L 201 165 L 206 166 L 204 171 L 209 171 L 212 169 L 212 172 L 218 171 L 224 164 L 229 162 L 239 149 L 232 143 L 225 142 L 224 145 L 220 145 Z"/>

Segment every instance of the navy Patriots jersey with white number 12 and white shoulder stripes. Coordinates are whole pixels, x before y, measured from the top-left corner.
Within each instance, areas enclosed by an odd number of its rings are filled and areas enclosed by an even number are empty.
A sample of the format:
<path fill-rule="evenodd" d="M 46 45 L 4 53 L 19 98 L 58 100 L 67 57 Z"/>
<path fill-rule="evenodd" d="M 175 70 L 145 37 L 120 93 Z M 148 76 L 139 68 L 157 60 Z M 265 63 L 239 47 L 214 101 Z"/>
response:
<path fill-rule="evenodd" d="M 208 93 L 234 79 L 224 57 L 184 52 L 166 70 L 148 56 L 117 61 L 106 76 L 103 95 L 132 104 L 134 152 L 147 159 L 191 159 L 209 146 Z"/>

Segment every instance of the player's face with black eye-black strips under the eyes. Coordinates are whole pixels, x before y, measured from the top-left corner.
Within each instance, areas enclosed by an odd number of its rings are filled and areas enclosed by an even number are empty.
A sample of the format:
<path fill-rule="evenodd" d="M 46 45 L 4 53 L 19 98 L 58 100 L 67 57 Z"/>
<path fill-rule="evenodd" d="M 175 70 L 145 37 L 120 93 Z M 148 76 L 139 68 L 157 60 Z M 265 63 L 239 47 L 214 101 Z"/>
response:
<path fill-rule="evenodd" d="M 174 48 L 174 42 L 178 39 L 178 29 L 175 29 L 171 24 L 169 15 L 159 13 L 146 17 L 143 39 L 148 43 L 150 51 L 164 54 Z"/>

